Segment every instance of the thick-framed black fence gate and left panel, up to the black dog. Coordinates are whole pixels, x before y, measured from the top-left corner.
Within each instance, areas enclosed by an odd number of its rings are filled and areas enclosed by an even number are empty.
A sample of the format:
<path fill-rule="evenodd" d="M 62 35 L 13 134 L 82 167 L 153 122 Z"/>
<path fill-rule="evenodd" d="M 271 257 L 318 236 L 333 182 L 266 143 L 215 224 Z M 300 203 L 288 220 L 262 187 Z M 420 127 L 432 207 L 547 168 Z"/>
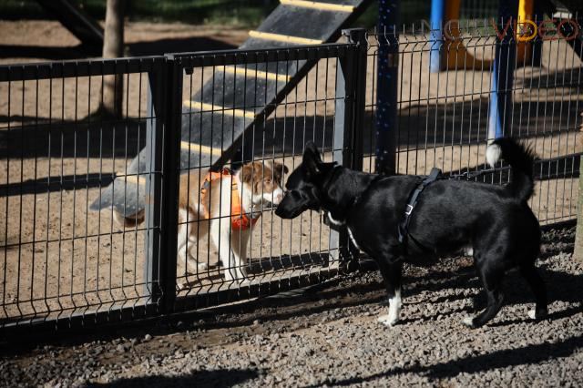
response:
<path fill-rule="evenodd" d="M 366 45 L 363 32 L 347 35 L 354 43 L 0 66 L 3 332 L 185 311 L 334 275 L 346 236 L 267 204 L 254 210 L 244 279 L 225 279 L 232 264 L 210 235 L 189 240 L 199 265 L 187 266 L 178 232 L 199 222 L 179 219 L 178 199 L 225 165 L 292 170 L 308 140 L 358 168 Z M 101 108 L 110 80 L 124 90 L 113 115 Z M 185 174 L 200 179 L 185 188 Z"/>

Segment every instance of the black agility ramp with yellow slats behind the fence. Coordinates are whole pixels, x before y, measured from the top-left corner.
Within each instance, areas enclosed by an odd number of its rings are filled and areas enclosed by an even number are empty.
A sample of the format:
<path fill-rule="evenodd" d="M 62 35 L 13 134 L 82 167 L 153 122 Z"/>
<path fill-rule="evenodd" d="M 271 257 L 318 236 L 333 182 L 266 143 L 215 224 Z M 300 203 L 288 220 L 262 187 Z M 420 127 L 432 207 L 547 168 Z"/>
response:
<path fill-rule="evenodd" d="M 240 49 L 333 42 L 340 37 L 343 26 L 370 3 L 371 0 L 281 0 L 261 26 L 250 32 Z M 180 168 L 216 168 L 229 159 L 244 158 L 236 155 L 243 134 L 261 124 L 313 65 L 313 61 L 299 61 L 282 68 L 276 63 L 269 66 L 260 63 L 252 68 L 225 66 L 224 71 L 218 71 L 212 81 L 183 101 Z M 250 77 L 254 78 L 253 82 L 249 81 Z M 255 107 L 256 98 L 249 97 L 256 90 L 265 91 L 261 107 Z M 188 115 L 190 112 L 194 115 Z M 214 129 L 211 132 L 202 128 Z M 126 175 L 133 176 L 118 177 L 103 190 L 91 209 L 113 206 L 127 216 L 144 209 L 144 189 L 138 190 L 138 185 L 146 179 L 139 179 L 136 174 L 147 171 L 148 152 L 142 149 L 128 166 Z"/>

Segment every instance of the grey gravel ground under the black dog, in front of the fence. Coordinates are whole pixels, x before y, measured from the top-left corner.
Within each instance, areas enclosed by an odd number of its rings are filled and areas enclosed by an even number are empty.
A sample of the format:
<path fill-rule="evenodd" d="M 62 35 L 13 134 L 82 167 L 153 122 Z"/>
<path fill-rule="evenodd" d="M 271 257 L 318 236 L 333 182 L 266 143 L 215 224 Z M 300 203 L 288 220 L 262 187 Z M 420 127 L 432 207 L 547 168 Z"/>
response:
<path fill-rule="evenodd" d="M 527 319 L 532 298 L 519 276 L 487 327 L 461 321 L 478 282 L 471 260 L 407 267 L 402 322 L 376 322 L 386 307 L 376 271 L 320 291 L 251 301 L 67 338 L 5 343 L 0 384 L 91 386 L 581 386 L 582 263 L 571 260 L 574 229 L 550 230 L 538 267 L 549 289 L 547 320 Z"/>

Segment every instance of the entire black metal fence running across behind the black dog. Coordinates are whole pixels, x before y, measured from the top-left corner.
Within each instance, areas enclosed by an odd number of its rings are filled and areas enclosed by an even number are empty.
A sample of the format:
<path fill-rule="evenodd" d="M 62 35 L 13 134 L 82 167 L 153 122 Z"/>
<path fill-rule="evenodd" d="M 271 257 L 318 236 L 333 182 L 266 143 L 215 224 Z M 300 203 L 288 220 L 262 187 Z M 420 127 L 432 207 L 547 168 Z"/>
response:
<path fill-rule="evenodd" d="M 214 187 L 207 171 L 258 162 L 263 175 L 250 187 L 262 195 L 278 179 L 273 164 L 297 167 L 308 139 L 327 160 L 373 171 L 377 63 L 389 46 L 394 172 L 485 168 L 502 45 L 481 27 L 454 41 L 414 28 L 370 34 L 367 45 L 353 31 L 345 44 L 0 66 L 0 325 L 137 319 L 334 276 L 352 257 L 343 233 L 318 214 L 278 219 L 267 203 L 252 209 L 261 218 L 249 235 L 233 230 L 223 205 L 236 179 L 203 203 L 202 189 Z M 577 214 L 581 51 L 563 40 L 531 45 L 539 62 L 517 55 L 503 90 L 504 129 L 535 146 L 531 206 L 553 223 Z M 435 52 L 445 67 L 431 73 Z M 123 78 L 121 117 L 100 110 L 111 75 Z M 501 171 L 482 179 L 503 183 Z M 195 208 L 219 210 L 185 218 Z M 217 239 L 225 235 L 235 237 Z M 246 254 L 238 261 L 233 250 Z"/>

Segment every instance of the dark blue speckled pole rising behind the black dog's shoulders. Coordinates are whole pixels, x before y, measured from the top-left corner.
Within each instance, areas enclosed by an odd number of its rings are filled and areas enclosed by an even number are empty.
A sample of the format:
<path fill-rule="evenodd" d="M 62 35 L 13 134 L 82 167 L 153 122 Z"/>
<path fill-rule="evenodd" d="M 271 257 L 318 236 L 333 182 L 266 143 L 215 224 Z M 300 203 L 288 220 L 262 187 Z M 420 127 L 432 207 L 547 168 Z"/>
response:
<path fill-rule="evenodd" d="M 376 162 L 378 173 L 395 173 L 399 0 L 379 0 L 376 83 Z"/>

